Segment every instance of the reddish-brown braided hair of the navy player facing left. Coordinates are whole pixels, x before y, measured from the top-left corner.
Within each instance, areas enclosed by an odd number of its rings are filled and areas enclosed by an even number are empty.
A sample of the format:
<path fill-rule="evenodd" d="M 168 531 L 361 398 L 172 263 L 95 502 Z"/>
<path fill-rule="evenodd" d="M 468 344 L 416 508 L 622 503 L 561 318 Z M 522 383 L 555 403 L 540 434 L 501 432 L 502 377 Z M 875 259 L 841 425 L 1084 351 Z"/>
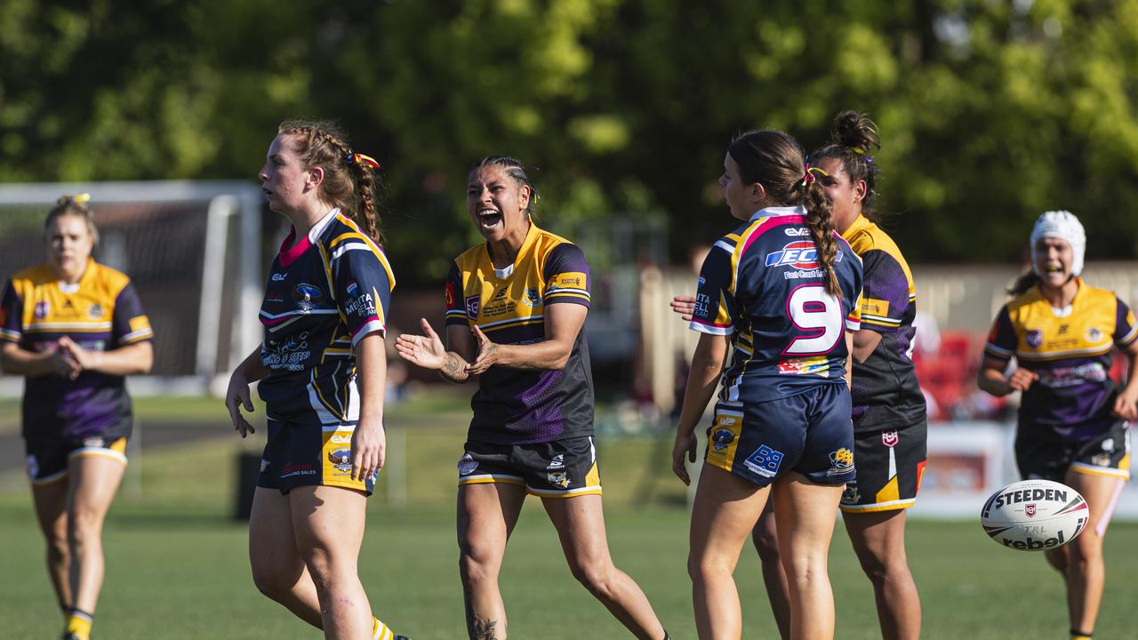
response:
<path fill-rule="evenodd" d="M 376 244 L 382 244 L 384 235 L 376 206 L 378 163 L 366 156 L 353 154 L 344 141 L 343 132 L 330 122 L 287 121 L 281 123 L 277 132 L 295 136 L 296 154 L 300 162 L 307 167 L 319 166 L 323 170 L 321 199 L 339 207 Z"/>

